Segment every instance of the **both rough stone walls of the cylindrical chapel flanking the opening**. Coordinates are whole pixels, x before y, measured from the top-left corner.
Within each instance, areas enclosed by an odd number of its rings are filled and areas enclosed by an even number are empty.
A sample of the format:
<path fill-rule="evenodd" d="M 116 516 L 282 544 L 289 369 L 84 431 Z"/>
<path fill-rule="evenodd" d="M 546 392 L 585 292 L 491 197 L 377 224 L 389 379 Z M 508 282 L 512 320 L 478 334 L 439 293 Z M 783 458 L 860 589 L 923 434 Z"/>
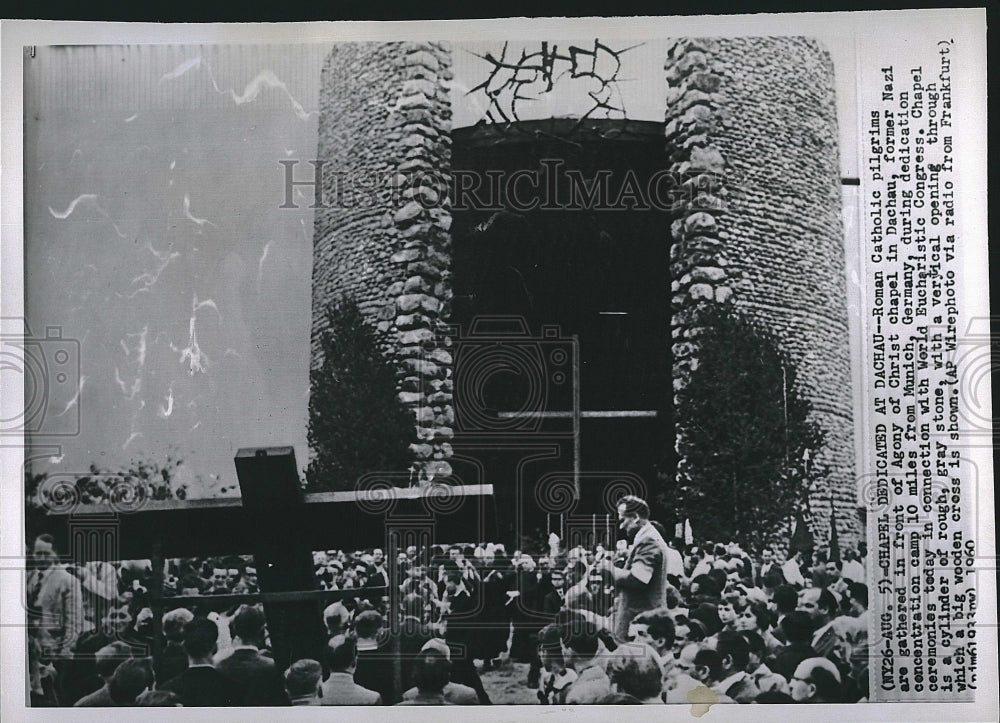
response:
<path fill-rule="evenodd" d="M 854 484 L 852 396 L 833 67 L 811 39 L 681 39 L 664 64 L 663 142 L 691 192 L 663 229 L 670 245 L 673 376 L 697 345 L 691 309 L 734 304 L 768 328 L 797 365 L 825 434 L 830 474 L 814 527 L 863 534 Z M 313 351 L 326 305 L 349 293 L 398 368 L 414 415 L 411 449 L 447 474 L 455 417 L 451 308 L 451 53 L 440 43 L 345 43 L 323 68 Z M 394 179 L 376 199 L 338 203 L 364 179 Z M 360 181 L 360 185 L 359 185 Z M 676 430 L 683 434 L 683 430 Z M 683 460 L 681 460 L 683 464 Z"/>

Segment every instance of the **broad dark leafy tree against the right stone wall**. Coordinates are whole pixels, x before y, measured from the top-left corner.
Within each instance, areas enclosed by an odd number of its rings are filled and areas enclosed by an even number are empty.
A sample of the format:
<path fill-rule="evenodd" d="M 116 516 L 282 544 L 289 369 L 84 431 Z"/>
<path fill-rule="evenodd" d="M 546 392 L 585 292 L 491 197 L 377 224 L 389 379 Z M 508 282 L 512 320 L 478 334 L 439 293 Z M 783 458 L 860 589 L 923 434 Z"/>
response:
<path fill-rule="evenodd" d="M 751 549 L 787 541 L 823 470 L 810 465 L 823 433 L 774 337 L 732 308 L 702 309 L 698 364 L 678 392 L 678 454 L 661 501 L 698 537 Z"/>

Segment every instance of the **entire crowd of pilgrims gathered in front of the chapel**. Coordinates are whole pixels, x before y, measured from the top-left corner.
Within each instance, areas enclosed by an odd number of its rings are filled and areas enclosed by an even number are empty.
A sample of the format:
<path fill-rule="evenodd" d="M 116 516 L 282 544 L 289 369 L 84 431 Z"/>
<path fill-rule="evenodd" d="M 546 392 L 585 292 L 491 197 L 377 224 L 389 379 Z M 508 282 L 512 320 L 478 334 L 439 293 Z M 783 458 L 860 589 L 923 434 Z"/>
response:
<path fill-rule="evenodd" d="M 316 552 L 317 587 L 356 592 L 325 607 L 322 655 L 284 670 L 259 604 L 192 599 L 257 592 L 251 558 L 168 561 L 154 665 L 148 561 L 61 565 L 41 535 L 28 578 L 32 704 L 489 704 L 482 674 L 511 661 L 527 664 L 542 704 L 687 704 L 704 688 L 715 702 L 867 699 L 863 548 L 684 544 L 634 497 L 618 517 L 626 539 L 613 549 L 554 539 L 532 551 L 410 547 L 393 560 Z"/>

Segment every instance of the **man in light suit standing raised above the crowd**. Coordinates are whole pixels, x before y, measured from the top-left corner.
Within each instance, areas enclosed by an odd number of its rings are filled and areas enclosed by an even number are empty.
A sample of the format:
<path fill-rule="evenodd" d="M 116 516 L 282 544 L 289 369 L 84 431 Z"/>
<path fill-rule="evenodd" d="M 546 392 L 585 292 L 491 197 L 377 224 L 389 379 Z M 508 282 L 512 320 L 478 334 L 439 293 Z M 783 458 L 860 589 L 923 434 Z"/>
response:
<path fill-rule="evenodd" d="M 649 522 L 649 505 L 635 495 L 618 503 L 619 527 L 632 538 L 624 567 L 609 566 L 614 575 L 615 638 L 628 641 L 628 625 L 639 613 L 667 604 L 667 543 Z"/>

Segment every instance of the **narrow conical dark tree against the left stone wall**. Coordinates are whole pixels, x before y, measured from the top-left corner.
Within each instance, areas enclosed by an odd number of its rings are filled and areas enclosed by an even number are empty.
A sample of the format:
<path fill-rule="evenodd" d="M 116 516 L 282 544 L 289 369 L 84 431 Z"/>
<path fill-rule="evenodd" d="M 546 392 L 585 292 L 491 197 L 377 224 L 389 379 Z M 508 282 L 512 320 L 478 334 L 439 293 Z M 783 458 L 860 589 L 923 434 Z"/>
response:
<path fill-rule="evenodd" d="M 332 305 L 310 375 L 310 491 L 354 489 L 365 474 L 406 470 L 413 416 L 399 401 L 396 369 L 352 300 Z"/>

